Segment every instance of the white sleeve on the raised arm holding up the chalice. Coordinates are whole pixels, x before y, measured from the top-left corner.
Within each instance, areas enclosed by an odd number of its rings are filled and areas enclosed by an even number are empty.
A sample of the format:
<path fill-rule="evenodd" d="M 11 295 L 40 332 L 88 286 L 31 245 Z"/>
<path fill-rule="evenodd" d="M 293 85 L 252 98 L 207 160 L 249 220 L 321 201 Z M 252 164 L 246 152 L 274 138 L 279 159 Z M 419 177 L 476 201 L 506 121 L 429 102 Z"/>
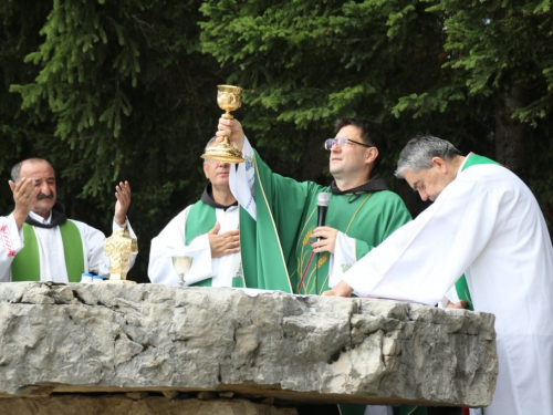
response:
<path fill-rule="evenodd" d="M 229 174 L 230 191 L 236 197 L 240 206 L 257 220 L 258 210 L 255 206 L 255 153 L 251 147 L 248 137 L 244 137 L 242 154 L 244 163 L 238 164 L 238 168 L 231 168 Z"/>

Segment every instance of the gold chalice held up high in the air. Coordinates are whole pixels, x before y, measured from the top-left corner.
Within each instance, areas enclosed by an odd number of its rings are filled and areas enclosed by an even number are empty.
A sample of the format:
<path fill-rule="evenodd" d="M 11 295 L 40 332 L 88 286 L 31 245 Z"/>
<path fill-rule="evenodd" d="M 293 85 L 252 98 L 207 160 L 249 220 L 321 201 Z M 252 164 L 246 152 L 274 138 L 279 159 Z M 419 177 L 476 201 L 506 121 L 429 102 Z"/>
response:
<path fill-rule="evenodd" d="M 226 113 L 221 115 L 222 118 L 232 120 L 231 111 L 238 110 L 242 106 L 242 91 L 240 86 L 233 85 L 217 85 L 217 104 Z M 242 152 L 232 147 L 229 137 L 216 146 L 208 147 L 206 153 L 201 156 L 207 160 L 225 162 L 225 163 L 243 163 Z"/>

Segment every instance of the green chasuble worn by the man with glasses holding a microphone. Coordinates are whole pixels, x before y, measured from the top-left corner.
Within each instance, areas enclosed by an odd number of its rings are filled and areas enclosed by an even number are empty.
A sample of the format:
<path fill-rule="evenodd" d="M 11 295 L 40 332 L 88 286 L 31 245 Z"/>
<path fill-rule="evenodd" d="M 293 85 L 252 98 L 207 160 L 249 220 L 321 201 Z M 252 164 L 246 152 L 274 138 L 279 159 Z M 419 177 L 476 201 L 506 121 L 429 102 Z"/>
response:
<path fill-rule="evenodd" d="M 330 290 L 330 255 L 312 256 L 309 243 L 317 226 L 320 193 L 330 194 L 325 225 L 355 239 L 356 260 L 411 219 L 401 199 L 392 191 L 333 195 L 330 187 L 273 174 L 257 153 L 255 158 L 248 162 L 255 168 L 258 216 L 254 221 L 246 210 L 240 215 L 246 276 L 257 277 L 248 287 L 302 294 Z M 340 266 L 345 271 L 353 263 Z M 305 277 L 300 288 L 302 276 Z M 366 408 L 365 405 L 338 406 L 343 415 L 363 415 Z M 394 412 L 424 415 L 426 408 L 403 405 Z"/>

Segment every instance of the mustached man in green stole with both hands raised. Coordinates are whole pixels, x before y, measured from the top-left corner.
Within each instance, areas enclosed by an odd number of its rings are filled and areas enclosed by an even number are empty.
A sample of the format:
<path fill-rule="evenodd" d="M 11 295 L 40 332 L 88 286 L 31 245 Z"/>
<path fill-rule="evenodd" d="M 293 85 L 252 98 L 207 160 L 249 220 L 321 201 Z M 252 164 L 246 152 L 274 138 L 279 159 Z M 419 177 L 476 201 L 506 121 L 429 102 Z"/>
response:
<path fill-rule="evenodd" d="M 15 207 L 0 217 L 0 281 L 79 282 L 83 272 L 107 276 L 109 258 L 104 256 L 105 236 L 97 229 L 67 219 L 52 165 L 29 158 L 13 166 L 9 181 Z M 126 227 L 131 186 L 115 188 L 113 229 Z M 133 264 L 136 256 L 131 258 Z"/>

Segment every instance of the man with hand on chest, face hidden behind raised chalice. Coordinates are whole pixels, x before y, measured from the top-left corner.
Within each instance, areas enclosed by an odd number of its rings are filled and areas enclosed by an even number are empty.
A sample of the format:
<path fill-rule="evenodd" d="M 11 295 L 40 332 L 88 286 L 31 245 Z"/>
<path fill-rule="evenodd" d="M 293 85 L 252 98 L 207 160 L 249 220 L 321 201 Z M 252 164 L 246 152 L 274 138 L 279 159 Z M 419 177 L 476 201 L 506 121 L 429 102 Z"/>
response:
<path fill-rule="evenodd" d="M 215 145 L 211 138 L 206 148 Z M 229 188 L 230 164 L 204 162 L 209 184 L 201 199 L 177 215 L 152 240 L 148 277 L 154 283 L 178 286 L 173 257 L 190 257 L 187 286 L 243 287 L 239 206 Z"/>

